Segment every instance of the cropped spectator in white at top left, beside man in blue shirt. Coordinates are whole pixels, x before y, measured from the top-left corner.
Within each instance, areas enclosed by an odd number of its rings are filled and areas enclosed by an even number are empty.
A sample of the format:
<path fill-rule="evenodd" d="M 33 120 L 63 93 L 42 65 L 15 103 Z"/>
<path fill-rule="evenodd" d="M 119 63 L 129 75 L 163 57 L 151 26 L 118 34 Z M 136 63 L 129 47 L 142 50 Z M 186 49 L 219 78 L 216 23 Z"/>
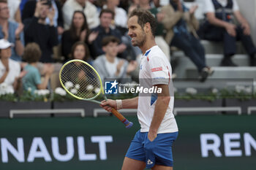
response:
<path fill-rule="evenodd" d="M 8 0 L 8 7 L 10 9 L 10 18 L 9 20 L 21 23 L 20 16 L 20 0 Z"/>

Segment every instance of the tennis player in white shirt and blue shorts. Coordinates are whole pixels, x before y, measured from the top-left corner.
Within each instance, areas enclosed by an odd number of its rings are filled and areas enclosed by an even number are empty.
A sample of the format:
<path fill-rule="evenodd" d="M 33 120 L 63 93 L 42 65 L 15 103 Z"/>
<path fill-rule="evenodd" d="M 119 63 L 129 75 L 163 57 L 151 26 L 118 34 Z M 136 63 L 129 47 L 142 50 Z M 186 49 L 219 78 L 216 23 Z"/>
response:
<path fill-rule="evenodd" d="M 172 170 L 172 145 L 178 136 L 178 127 L 173 115 L 174 98 L 170 95 L 170 62 L 154 40 L 156 23 L 150 12 L 144 9 L 132 11 L 128 28 L 132 45 L 140 47 L 144 54 L 140 63 L 140 84 L 151 80 L 146 83 L 162 88 L 162 93 L 156 97 L 140 93 L 136 98 L 102 101 L 101 107 L 108 112 L 111 107 L 138 108 L 141 128 L 129 146 L 122 170 Z"/>

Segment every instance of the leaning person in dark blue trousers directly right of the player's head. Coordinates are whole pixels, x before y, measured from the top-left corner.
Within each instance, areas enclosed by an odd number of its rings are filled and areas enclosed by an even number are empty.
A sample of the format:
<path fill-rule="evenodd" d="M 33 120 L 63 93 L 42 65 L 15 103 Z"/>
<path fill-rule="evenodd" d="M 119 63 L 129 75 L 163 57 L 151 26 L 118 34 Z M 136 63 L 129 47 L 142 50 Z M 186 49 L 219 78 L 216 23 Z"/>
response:
<path fill-rule="evenodd" d="M 213 70 L 206 65 L 206 56 L 196 30 L 198 22 L 194 16 L 197 6 L 187 9 L 181 0 L 170 0 L 170 4 L 162 7 L 165 17 L 162 20 L 167 34 L 165 40 L 171 46 L 178 47 L 192 60 L 200 73 L 200 81 L 205 81 Z"/>

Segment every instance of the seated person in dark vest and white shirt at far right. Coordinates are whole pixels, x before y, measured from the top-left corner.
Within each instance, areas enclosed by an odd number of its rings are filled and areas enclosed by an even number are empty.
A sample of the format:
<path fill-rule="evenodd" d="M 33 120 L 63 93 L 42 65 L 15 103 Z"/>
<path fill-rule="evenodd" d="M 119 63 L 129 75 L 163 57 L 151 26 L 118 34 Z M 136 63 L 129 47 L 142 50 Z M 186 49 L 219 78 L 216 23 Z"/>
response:
<path fill-rule="evenodd" d="M 223 42 L 224 58 L 221 66 L 237 66 L 231 60 L 236 54 L 236 40 L 241 40 L 249 54 L 249 64 L 256 66 L 256 48 L 252 42 L 251 30 L 241 15 L 236 0 L 206 0 L 204 9 L 206 22 L 200 28 L 199 35 L 202 39 Z M 234 16 L 240 25 L 235 24 Z"/>

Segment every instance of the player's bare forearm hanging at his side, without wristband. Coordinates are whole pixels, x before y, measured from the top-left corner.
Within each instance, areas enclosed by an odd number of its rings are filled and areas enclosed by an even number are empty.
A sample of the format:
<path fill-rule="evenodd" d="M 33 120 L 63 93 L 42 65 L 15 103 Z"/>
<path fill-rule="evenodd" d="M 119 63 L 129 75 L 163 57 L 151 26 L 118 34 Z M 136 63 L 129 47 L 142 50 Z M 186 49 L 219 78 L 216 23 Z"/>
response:
<path fill-rule="evenodd" d="M 154 116 L 151 121 L 149 131 L 157 133 L 163 118 L 165 117 L 165 112 L 170 102 L 170 96 L 161 96 L 157 98 L 157 103 L 154 109 Z"/>

